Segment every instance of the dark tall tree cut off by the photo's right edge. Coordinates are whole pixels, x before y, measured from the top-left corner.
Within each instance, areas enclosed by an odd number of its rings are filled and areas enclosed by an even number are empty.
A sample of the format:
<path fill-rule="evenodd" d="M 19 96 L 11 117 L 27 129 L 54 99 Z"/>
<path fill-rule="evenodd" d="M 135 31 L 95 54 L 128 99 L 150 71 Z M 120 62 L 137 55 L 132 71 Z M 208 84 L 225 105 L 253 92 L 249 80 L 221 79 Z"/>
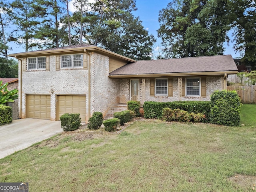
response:
<path fill-rule="evenodd" d="M 234 48 L 242 61 L 256 69 L 256 3 L 251 0 L 234 0 Z"/>

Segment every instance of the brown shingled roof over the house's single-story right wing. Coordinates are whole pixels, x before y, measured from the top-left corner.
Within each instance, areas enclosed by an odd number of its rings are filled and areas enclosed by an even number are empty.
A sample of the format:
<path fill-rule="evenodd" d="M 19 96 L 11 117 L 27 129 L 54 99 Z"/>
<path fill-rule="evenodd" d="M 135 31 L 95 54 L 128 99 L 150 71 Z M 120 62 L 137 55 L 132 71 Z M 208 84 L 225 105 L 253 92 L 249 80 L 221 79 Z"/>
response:
<path fill-rule="evenodd" d="M 218 55 L 137 61 L 114 70 L 109 77 L 217 75 L 237 72 L 231 55 Z"/>

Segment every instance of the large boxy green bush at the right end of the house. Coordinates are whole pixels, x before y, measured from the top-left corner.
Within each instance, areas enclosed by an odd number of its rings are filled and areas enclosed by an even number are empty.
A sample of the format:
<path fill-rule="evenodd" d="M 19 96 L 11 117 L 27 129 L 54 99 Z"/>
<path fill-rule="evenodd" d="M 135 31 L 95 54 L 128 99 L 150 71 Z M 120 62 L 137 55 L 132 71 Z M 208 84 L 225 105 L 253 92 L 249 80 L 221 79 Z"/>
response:
<path fill-rule="evenodd" d="M 215 124 L 238 126 L 241 101 L 236 91 L 214 91 L 211 95 L 210 121 Z"/>

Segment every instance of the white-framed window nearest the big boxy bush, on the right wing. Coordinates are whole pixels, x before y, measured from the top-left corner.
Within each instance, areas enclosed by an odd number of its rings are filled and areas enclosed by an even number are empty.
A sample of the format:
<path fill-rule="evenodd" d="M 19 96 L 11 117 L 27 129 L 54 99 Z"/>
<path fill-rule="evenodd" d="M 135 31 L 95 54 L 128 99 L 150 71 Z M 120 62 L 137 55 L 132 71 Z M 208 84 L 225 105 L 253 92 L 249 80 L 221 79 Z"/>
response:
<path fill-rule="evenodd" d="M 200 78 L 186 78 L 186 96 L 200 96 Z"/>

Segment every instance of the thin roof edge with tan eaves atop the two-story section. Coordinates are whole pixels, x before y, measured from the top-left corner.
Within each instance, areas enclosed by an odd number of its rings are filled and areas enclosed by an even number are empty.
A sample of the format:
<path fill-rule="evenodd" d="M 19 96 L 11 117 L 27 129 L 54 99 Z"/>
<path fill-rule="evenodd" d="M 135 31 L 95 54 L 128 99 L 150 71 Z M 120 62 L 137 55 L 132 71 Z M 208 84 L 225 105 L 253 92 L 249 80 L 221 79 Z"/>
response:
<path fill-rule="evenodd" d="M 136 60 L 133 60 L 131 58 L 122 56 L 120 54 L 105 50 L 103 48 L 100 48 L 94 45 L 88 45 L 88 44 L 77 44 L 72 46 L 51 48 L 51 49 L 45 49 L 45 50 L 20 52 L 20 53 L 9 54 L 8 56 L 15 57 L 15 58 L 22 58 L 22 57 L 45 56 L 45 55 L 54 55 L 54 54 L 55 55 L 69 54 L 69 53 L 73 54 L 73 53 L 82 53 L 82 52 L 99 52 L 103 55 L 112 56 L 115 58 L 126 60 L 128 62 L 136 62 Z"/>

